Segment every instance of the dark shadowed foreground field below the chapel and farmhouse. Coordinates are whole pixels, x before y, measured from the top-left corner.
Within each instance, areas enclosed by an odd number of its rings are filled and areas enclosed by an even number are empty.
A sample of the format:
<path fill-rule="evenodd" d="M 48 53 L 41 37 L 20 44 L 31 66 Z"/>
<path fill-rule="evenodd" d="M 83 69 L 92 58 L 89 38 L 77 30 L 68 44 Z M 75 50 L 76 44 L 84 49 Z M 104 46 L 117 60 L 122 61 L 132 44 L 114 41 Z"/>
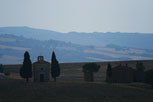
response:
<path fill-rule="evenodd" d="M 153 102 L 153 90 L 102 82 L 25 84 L 23 80 L 1 77 L 0 102 Z"/>

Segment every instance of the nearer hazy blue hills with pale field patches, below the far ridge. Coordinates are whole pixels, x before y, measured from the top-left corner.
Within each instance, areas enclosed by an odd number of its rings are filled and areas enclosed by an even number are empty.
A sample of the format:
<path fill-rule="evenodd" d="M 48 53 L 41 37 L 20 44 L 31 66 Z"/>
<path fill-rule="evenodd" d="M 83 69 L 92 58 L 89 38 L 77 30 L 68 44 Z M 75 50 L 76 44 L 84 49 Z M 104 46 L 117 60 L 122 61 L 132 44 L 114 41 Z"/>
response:
<path fill-rule="evenodd" d="M 53 50 L 60 62 L 153 59 L 153 50 L 114 44 L 105 47 L 85 46 L 57 40 L 35 40 L 12 34 L 0 34 L 0 63 L 2 64 L 22 63 L 25 51 L 30 52 L 33 62 L 39 55 L 43 55 L 47 61 L 50 61 Z"/>

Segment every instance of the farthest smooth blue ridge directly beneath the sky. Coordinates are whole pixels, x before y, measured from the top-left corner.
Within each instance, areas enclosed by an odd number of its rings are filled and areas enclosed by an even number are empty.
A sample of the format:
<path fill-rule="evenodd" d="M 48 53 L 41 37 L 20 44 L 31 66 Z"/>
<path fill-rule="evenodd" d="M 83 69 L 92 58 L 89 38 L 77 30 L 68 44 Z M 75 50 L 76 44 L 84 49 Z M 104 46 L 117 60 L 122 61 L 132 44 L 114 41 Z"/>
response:
<path fill-rule="evenodd" d="M 153 49 L 153 34 L 120 32 L 60 33 L 29 27 L 0 27 L 0 34 L 12 34 L 37 40 L 53 39 L 80 45 L 106 46 L 108 44 L 114 44 L 133 48 Z"/>

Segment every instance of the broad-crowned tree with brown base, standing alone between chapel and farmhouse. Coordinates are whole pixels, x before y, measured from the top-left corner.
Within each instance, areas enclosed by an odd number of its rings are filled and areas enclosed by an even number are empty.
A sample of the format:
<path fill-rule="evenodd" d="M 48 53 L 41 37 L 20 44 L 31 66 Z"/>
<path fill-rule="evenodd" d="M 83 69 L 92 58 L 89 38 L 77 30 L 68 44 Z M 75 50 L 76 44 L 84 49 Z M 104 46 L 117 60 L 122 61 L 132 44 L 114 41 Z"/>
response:
<path fill-rule="evenodd" d="M 96 63 L 87 63 L 83 65 L 84 79 L 85 81 L 93 81 L 93 73 L 98 72 L 100 65 Z"/>

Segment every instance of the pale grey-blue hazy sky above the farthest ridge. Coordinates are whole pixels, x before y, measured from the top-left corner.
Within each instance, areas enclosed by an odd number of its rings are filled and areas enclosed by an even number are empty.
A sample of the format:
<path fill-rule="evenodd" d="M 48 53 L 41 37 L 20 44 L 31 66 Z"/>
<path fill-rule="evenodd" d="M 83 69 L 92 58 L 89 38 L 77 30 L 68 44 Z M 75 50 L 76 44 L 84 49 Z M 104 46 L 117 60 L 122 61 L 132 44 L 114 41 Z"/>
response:
<path fill-rule="evenodd" d="M 0 26 L 153 33 L 153 0 L 0 0 Z"/>

